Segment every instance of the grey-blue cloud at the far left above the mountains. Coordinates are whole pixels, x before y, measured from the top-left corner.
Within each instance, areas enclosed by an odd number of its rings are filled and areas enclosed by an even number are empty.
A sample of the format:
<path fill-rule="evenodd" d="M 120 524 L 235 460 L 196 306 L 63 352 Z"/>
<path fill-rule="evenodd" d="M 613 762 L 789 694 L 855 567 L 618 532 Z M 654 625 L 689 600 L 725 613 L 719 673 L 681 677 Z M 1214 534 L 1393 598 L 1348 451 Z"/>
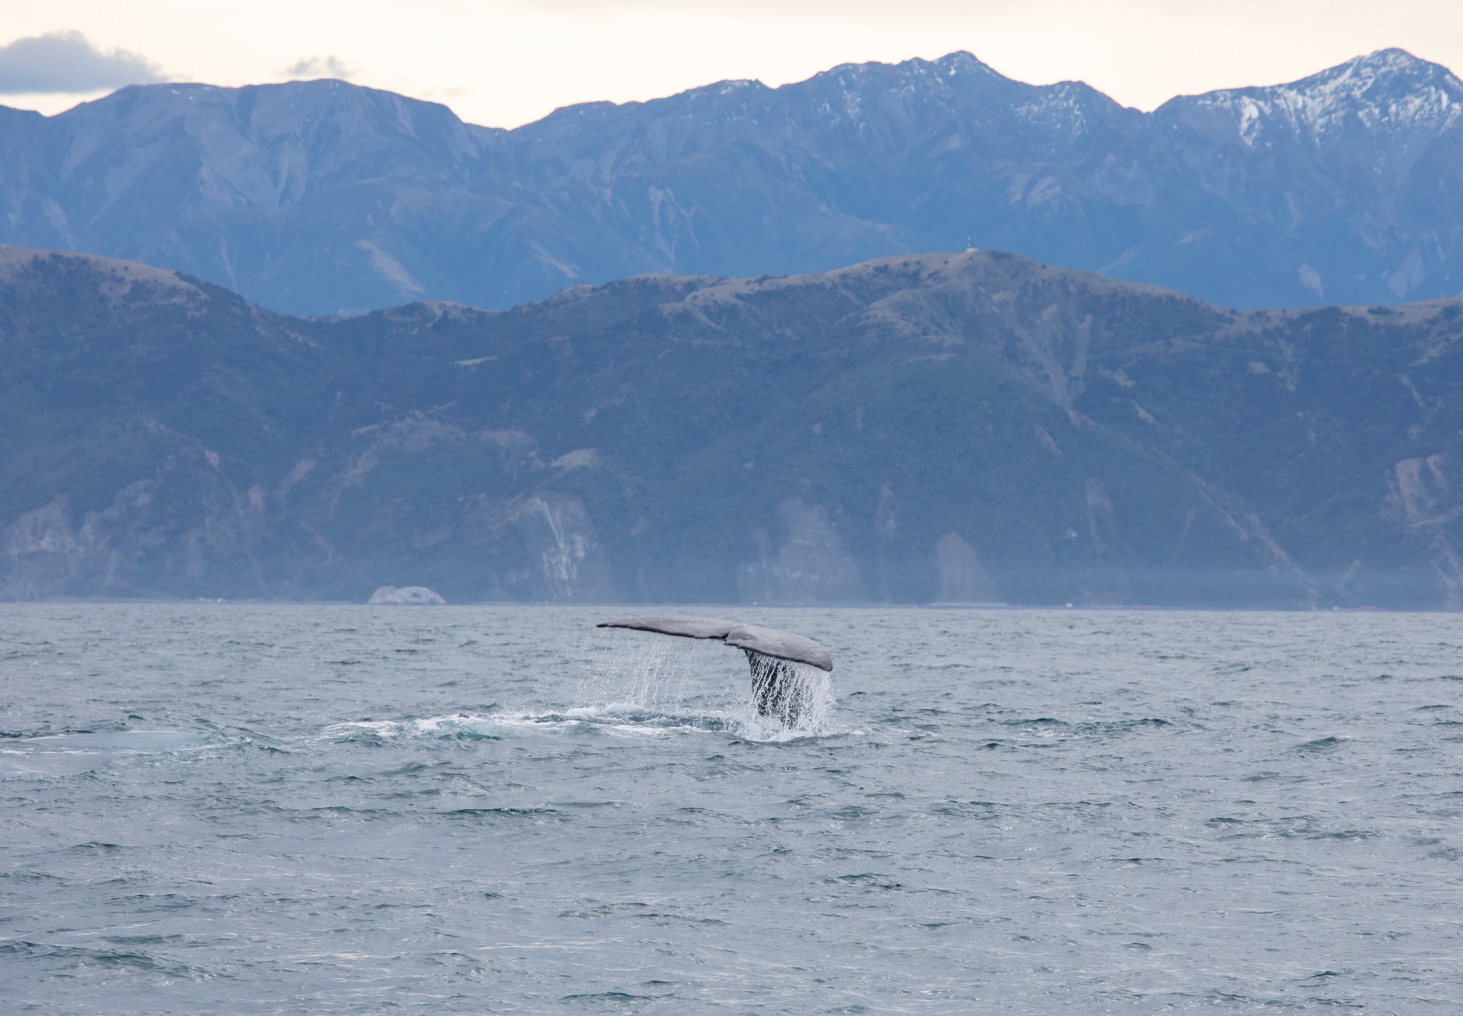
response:
<path fill-rule="evenodd" d="M 167 80 L 162 67 L 129 50 L 99 50 L 76 31 L 0 45 L 0 95 L 97 92 Z"/>

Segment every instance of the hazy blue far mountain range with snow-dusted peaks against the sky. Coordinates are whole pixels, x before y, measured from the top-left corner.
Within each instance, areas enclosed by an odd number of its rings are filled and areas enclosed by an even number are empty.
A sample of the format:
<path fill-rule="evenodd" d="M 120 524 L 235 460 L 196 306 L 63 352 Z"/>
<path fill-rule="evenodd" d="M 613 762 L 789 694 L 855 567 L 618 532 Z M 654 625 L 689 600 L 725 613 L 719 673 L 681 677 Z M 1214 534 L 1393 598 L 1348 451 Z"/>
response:
<path fill-rule="evenodd" d="M 967 246 L 1220 306 L 1390 304 L 1463 289 L 1460 117 L 1463 83 L 1400 50 L 1153 113 L 967 53 L 516 130 L 339 80 L 148 85 L 0 108 L 0 241 L 297 314 Z"/>

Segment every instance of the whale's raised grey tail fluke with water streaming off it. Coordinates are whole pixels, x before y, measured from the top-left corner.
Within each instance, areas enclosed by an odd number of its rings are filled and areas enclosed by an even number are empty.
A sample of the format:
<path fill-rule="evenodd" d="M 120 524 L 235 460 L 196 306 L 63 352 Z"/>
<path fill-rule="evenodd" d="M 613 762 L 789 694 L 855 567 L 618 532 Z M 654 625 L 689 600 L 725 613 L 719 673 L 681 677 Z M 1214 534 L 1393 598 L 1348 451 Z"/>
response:
<path fill-rule="evenodd" d="M 816 712 L 822 681 L 808 668 L 832 671 L 832 653 L 812 639 L 759 624 L 737 624 L 714 617 L 626 617 L 600 621 L 600 629 L 654 632 L 680 639 L 724 642 L 746 653 L 756 715 L 797 729 Z"/>

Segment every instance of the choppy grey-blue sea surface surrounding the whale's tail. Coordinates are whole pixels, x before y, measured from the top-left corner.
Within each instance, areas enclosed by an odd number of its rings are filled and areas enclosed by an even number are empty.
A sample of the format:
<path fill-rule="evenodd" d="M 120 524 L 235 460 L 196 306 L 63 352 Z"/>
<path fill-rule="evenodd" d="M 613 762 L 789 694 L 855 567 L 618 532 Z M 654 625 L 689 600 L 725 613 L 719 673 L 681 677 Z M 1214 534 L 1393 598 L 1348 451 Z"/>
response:
<path fill-rule="evenodd" d="M 1457 615 L 612 613 L 0 607 L 0 1012 L 1463 1010 Z"/>

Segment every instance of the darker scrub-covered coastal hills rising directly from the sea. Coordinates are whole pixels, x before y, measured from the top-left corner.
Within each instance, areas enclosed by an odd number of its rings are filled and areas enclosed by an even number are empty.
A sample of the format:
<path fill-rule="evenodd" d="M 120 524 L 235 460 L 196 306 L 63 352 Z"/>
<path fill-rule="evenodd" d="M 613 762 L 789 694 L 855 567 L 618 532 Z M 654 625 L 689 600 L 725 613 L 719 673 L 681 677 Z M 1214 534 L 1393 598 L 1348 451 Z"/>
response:
<path fill-rule="evenodd" d="M 279 316 L 0 249 L 0 596 L 1463 605 L 1463 301 L 999 253 Z"/>

